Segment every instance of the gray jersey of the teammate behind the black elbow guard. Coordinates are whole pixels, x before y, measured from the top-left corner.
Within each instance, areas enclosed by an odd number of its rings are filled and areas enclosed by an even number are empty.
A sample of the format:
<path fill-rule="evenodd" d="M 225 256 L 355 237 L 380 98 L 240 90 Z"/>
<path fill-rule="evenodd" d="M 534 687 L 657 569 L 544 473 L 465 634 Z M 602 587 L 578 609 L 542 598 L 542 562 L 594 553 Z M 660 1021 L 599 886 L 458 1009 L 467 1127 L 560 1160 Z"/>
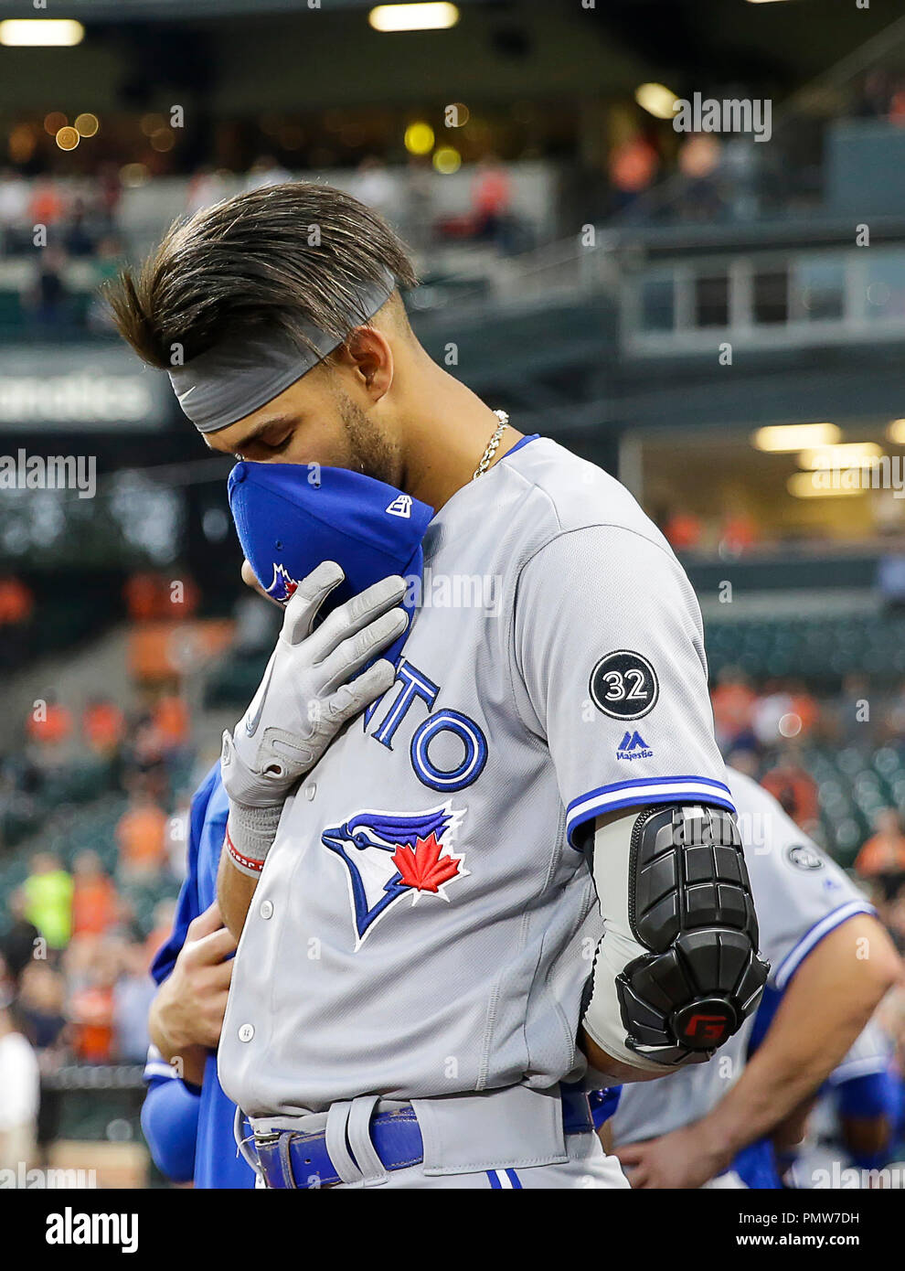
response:
<path fill-rule="evenodd" d="M 782 993 L 829 932 L 854 914 L 872 914 L 873 907 L 772 794 L 732 768 L 727 774 L 758 911 L 760 952 L 770 962 L 768 995 Z M 657 1082 L 624 1085 L 610 1120 L 613 1141 L 655 1139 L 705 1116 L 741 1075 L 754 1019 L 709 1063 Z"/>

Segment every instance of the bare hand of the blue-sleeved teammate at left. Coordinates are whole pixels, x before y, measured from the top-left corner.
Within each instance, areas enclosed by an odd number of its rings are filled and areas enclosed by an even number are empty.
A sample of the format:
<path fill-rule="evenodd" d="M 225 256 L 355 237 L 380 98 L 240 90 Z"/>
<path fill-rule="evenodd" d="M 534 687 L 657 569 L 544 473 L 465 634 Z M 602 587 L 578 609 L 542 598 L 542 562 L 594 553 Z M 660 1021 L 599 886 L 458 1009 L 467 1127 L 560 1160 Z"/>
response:
<path fill-rule="evenodd" d="M 236 941 L 222 925 L 216 901 L 189 923 L 186 943 L 153 1008 L 158 1030 L 167 1037 L 168 1060 L 191 1046 L 216 1050 L 235 949 Z"/>

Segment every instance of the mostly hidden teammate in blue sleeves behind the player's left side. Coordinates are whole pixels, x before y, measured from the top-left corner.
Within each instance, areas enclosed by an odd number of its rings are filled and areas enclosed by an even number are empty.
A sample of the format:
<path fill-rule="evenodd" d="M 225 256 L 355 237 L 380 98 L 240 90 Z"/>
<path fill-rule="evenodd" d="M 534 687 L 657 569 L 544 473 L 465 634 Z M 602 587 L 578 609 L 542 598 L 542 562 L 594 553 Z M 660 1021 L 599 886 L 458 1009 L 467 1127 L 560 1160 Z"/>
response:
<path fill-rule="evenodd" d="M 235 1150 L 235 1104 L 220 1087 L 216 1063 L 235 949 L 216 905 L 228 812 L 216 764 L 192 799 L 186 881 L 173 932 L 151 967 L 159 990 L 141 1110 L 158 1168 L 173 1182 L 205 1188 L 254 1186 L 254 1172 Z"/>

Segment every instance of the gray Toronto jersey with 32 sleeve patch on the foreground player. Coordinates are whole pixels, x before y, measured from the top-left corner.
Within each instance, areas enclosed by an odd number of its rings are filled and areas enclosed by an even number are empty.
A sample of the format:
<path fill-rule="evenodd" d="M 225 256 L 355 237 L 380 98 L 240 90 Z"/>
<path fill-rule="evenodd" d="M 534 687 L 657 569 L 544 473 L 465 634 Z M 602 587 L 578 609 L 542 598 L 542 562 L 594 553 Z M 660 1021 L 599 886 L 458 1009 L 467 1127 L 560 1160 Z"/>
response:
<path fill-rule="evenodd" d="M 285 806 L 224 1089 L 266 1116 L 581 1077 L 585 833 L 672 801 L 732 807 L 694 592 L 628 491 L 525 438 L 431 521 L 395 684 Z"/>

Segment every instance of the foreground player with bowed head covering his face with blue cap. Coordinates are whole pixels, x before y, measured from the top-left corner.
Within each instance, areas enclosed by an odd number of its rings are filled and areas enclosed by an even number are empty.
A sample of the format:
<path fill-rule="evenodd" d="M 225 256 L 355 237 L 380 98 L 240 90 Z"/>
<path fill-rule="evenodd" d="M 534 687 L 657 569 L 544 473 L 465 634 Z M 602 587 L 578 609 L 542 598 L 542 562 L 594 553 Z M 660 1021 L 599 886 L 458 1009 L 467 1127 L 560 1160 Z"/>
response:
<path fill-rule="evenodd" d="M 616 480 L 428 357 L 413 285 L 285 184 L 112 294 L 286 601 L 224 736 L 220 1079 L 269 1187 L 619 1187 L 577 1083 L 705 1061 L 766 975 L 700 613 Z"/>

